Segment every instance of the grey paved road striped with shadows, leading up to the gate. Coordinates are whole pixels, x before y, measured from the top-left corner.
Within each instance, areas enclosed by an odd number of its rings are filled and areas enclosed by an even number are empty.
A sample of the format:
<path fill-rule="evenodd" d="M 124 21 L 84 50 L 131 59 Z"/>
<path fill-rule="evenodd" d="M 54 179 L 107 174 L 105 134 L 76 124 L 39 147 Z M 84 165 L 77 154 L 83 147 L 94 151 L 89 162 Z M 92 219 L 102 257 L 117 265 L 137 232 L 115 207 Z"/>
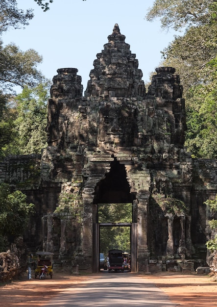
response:
<path fill-rule="evenodd" d="M 178 307 L 145 276 L 133 273 L 108 273 L 64 289 L 47 307 Z"/>

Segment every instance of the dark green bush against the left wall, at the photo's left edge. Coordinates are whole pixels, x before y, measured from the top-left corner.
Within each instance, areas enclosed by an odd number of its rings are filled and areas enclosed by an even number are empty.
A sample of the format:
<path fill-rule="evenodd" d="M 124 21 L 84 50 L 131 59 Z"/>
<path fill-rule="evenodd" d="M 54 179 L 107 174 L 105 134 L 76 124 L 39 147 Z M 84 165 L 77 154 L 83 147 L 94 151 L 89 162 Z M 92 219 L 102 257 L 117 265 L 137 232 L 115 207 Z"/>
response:
<path fill-rule="evenodd" d="M 8 184 L 0 185 L 0 235 L 19 236 L 24 233 L 34 205 L 26 203 L 21 191 L 10 191 Z"/>

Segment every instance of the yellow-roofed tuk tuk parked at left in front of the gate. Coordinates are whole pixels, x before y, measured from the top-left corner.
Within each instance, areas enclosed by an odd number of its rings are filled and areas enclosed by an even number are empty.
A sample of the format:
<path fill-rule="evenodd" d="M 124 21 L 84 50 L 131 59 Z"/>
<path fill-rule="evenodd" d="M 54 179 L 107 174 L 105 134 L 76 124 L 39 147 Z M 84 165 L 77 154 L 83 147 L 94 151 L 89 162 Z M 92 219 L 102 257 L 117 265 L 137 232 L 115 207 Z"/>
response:
<path fill-rule="evenodd" d="M 46 275 L 49 275 L 50 278 L 53 277 L 53 265 L 52 257 L 53 253 L 49 252 L 37 252 L 36 268 L 35 268 L 35 278 L 40 275 L 42 269 L 46 267 Z"/>

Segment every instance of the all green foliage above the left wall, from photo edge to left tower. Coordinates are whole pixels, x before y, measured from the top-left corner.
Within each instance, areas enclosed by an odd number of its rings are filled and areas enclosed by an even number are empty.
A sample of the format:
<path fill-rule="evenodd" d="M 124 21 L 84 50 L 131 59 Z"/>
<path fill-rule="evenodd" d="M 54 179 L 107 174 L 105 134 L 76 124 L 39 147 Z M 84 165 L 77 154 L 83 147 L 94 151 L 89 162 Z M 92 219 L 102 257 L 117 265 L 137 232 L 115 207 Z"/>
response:
<path fill-rule="evenodd" d="M 24 87 L 21 94 L 0 96 L 0 158 L 7 154 L 41 153 L 47 146 L 49 83 Z"/>

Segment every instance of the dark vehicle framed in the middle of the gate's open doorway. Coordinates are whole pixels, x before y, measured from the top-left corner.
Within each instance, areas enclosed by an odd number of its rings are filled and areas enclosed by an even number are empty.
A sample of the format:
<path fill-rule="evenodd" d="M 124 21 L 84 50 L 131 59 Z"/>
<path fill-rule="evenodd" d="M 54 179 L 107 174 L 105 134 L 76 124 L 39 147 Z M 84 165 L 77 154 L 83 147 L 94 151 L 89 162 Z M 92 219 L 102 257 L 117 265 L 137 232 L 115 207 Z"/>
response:
<path fill-rule="evenodd" d="M 108 271 L 124 271 L 123 252 L 121 250 L 110 250 L 108 252 Z"/>

